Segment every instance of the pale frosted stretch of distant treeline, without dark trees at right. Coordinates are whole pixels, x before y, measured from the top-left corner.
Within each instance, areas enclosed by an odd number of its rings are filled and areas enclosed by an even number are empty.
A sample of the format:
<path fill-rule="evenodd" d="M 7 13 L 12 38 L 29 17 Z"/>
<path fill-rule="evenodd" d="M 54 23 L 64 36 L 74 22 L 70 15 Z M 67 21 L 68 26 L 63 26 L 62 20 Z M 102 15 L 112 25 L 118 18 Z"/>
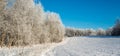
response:
<path fill-rule="evenodd" d="M 100 28 L 98 30 L 66 28 L 66 34 L 65 34 L 65 36 L 68 36 L 68 37 L 73 37 L 73 36 L 104 36 L 104 35 L 106 35 L 106 32 L 102 28 Z"/>

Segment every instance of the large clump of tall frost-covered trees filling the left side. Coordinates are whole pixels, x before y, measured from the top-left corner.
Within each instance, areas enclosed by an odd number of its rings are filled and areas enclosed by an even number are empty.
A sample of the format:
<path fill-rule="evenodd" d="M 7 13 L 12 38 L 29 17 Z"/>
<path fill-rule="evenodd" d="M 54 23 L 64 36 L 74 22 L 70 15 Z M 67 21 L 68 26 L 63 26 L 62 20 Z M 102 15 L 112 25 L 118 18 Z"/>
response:
<path fill-rule="evenodd" d="M 12 0 L 6 1 L 9 4 Z M 53 39 L 55 42 L 60 42 L 64 37 L 64 27 L 59 16 L 55 13 L 46 16 L 42 5 L 34 4 L 33 0 L 15 0 L 12 6 L 7 6 L 2 12 L 0 13 L 1 46 L 40 44 Z M 46 20 L 50 23 L 46 24 Z"/>

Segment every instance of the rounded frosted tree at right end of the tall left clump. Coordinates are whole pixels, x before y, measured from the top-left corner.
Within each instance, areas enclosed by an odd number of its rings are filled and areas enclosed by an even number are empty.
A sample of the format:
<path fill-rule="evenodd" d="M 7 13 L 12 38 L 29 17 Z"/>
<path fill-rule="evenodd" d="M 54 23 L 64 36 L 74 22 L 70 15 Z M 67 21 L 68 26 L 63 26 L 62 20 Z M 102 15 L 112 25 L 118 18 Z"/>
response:
<path fill-rule="evenodd" d="M 62 41 L 65 29 L 61 22 L 60 16 L 54 12 L 46 13 L 46 25 L 49 33 L 49 38 L 51 42 L 60 42 Z"/>

